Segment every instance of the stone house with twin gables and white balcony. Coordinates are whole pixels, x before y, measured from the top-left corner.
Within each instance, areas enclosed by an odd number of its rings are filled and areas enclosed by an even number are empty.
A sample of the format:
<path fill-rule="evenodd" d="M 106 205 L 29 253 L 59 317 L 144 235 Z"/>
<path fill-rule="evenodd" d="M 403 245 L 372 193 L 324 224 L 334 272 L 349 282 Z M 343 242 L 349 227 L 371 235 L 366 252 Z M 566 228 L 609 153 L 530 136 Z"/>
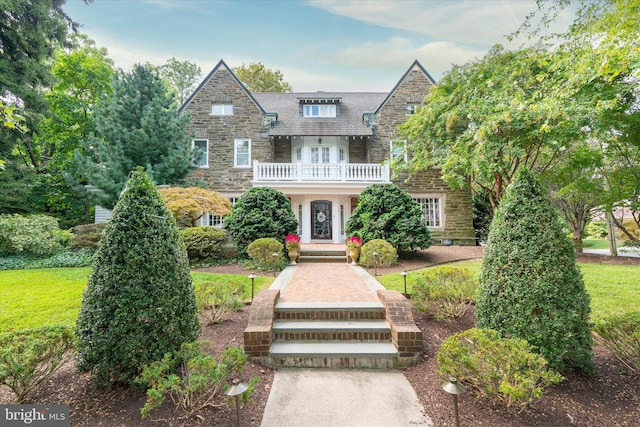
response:
<path fill-rule="evenodd" d="M 190 178 L 232 202 L 251 187 L 282 191 L 303 243 L 344 242 L 358 195 L 392 182 L 422 206 L 436 243 L 473 245 L 468 190 L 450 189 L 435 169 L 410 180 L 390 173 L 389 160 L 407 156 L 397 127 L 433 85 L 415 61 L 388 93 L 251 93 L 221 60 L 179 110 L 191 115 L 199 156 Z"/>

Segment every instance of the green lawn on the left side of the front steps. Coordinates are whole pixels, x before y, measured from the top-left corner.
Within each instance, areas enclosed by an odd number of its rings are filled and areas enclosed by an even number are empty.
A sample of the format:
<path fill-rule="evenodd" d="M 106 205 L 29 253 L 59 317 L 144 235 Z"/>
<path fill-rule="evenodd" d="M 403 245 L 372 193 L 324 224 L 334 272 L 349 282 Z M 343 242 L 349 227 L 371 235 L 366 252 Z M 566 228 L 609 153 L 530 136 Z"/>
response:
<path fill-rule="evenodd" d="M 47 268 L 0 271 L 0 332 L 52 324 L 75 326 L 82 291 L 91 268 Z M 251 299 L 251 280 L 233 274 L 192 273 L 194 284 L 236 281 Z M 268 288 L 273 277 L 255 279 L 255 293 Z"/>

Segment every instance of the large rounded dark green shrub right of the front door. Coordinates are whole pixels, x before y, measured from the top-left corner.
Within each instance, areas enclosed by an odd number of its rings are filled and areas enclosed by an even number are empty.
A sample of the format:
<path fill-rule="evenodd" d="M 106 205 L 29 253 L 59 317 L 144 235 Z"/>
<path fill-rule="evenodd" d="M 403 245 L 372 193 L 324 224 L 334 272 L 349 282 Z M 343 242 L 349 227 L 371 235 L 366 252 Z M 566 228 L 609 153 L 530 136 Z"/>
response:
<path fill-rule="evenodd" d="M 360 194 L 345 231 L 348 235 L 357 234 L 364 242 L 386 240 L 401 253 L 431 245 L 420 205 L 393 184 L 367 187 Z"/>

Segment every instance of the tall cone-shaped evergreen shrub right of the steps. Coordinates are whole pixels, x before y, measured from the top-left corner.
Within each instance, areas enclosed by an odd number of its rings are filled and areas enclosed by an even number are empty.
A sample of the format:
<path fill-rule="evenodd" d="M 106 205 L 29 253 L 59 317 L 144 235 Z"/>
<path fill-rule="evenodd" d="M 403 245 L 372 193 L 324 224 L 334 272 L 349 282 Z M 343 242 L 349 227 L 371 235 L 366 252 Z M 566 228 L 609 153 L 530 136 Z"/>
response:
<path fill-rule="evenodd" d="M 482 260 L 481 328 L 527 340 L 553 369 L 592 374 L 589 296 L 561 215 L 522 168 L 496 211 Z"/>

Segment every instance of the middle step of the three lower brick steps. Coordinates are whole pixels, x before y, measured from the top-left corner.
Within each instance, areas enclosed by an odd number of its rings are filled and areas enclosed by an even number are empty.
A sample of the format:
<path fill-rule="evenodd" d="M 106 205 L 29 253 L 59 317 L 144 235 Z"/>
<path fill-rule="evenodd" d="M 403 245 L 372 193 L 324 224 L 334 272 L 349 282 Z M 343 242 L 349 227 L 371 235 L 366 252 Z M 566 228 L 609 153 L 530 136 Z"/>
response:
<path fill-rule="evenodd" d="M 280 320 L 273 325 L 273 339 L 390 342 L 391 328 L 384 320 Z"/>

